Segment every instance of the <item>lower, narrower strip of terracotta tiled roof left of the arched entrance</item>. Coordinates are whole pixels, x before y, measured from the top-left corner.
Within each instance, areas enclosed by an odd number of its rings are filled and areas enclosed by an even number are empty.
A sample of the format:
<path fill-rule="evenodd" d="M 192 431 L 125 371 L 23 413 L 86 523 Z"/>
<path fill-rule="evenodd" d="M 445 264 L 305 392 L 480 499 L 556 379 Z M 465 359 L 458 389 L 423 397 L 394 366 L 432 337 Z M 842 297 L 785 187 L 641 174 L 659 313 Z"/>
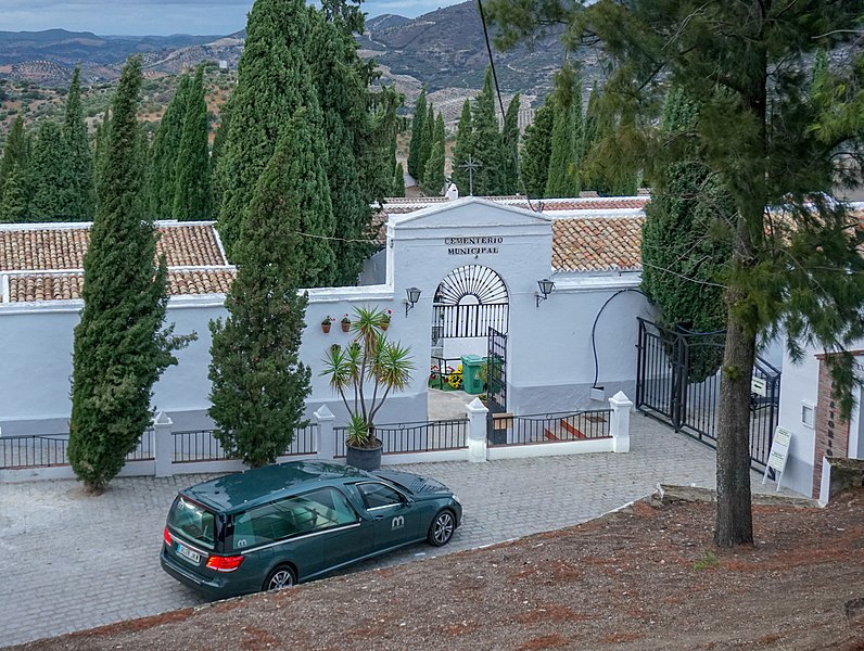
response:
<path fill-rule="evenodd" d="M 233 269 L 174 269 L 168 271 L 170 296 L 224 294 L 234 278 Z M 27 273 L 9 277 L 10 303 L 73 301 L 81 297 L 82 273 Z"/>

